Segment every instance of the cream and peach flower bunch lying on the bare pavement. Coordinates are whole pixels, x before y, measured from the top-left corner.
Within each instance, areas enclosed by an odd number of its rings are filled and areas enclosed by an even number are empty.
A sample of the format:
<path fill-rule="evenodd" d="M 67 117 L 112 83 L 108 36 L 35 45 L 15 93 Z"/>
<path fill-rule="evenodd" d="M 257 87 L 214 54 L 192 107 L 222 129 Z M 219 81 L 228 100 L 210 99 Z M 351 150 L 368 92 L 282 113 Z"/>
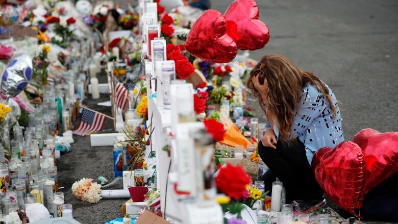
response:
<path fill-rule="evenodd" d="M 75 197 L 88 203 L 98 203 L 101 200 L 101 185 L 92 183 L 93 179 L 83 178 L 72 184 L 72 192 Z"/>

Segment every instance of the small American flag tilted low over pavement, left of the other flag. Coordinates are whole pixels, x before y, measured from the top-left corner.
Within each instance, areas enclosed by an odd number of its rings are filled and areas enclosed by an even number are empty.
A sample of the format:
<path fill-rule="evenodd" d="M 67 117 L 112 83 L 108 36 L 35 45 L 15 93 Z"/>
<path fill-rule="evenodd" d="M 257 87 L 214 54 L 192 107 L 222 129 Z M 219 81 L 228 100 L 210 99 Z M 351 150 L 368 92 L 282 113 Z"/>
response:
<path fill-rule="evenodd" d="M 105 119 L 104 115 L 83 108 L 79 126 L 73 131 L 73 134 L 84 136 L 91 132 L 100 131 L 104 127 Z"/>

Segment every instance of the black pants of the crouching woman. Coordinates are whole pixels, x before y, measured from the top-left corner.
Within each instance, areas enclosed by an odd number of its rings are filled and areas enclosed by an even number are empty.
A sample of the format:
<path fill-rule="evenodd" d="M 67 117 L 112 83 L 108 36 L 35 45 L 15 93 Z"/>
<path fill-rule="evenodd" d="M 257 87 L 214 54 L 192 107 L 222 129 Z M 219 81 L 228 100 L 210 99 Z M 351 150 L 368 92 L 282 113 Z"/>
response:
<path fill-rule="evenodd" d="M 324 193 L 308 163 L 304 144 L 298 139 L 289 145 L 278 141 L 276 147 L 265 147 L 261 141 L 258 144 L 258 153 L 269 167 L 260 179 L 265 183 L 265 190 L 271 190 L 272 182 L 278 177 L 286 189 L 286 203 L 293 200 L 322 200 Z"/>

